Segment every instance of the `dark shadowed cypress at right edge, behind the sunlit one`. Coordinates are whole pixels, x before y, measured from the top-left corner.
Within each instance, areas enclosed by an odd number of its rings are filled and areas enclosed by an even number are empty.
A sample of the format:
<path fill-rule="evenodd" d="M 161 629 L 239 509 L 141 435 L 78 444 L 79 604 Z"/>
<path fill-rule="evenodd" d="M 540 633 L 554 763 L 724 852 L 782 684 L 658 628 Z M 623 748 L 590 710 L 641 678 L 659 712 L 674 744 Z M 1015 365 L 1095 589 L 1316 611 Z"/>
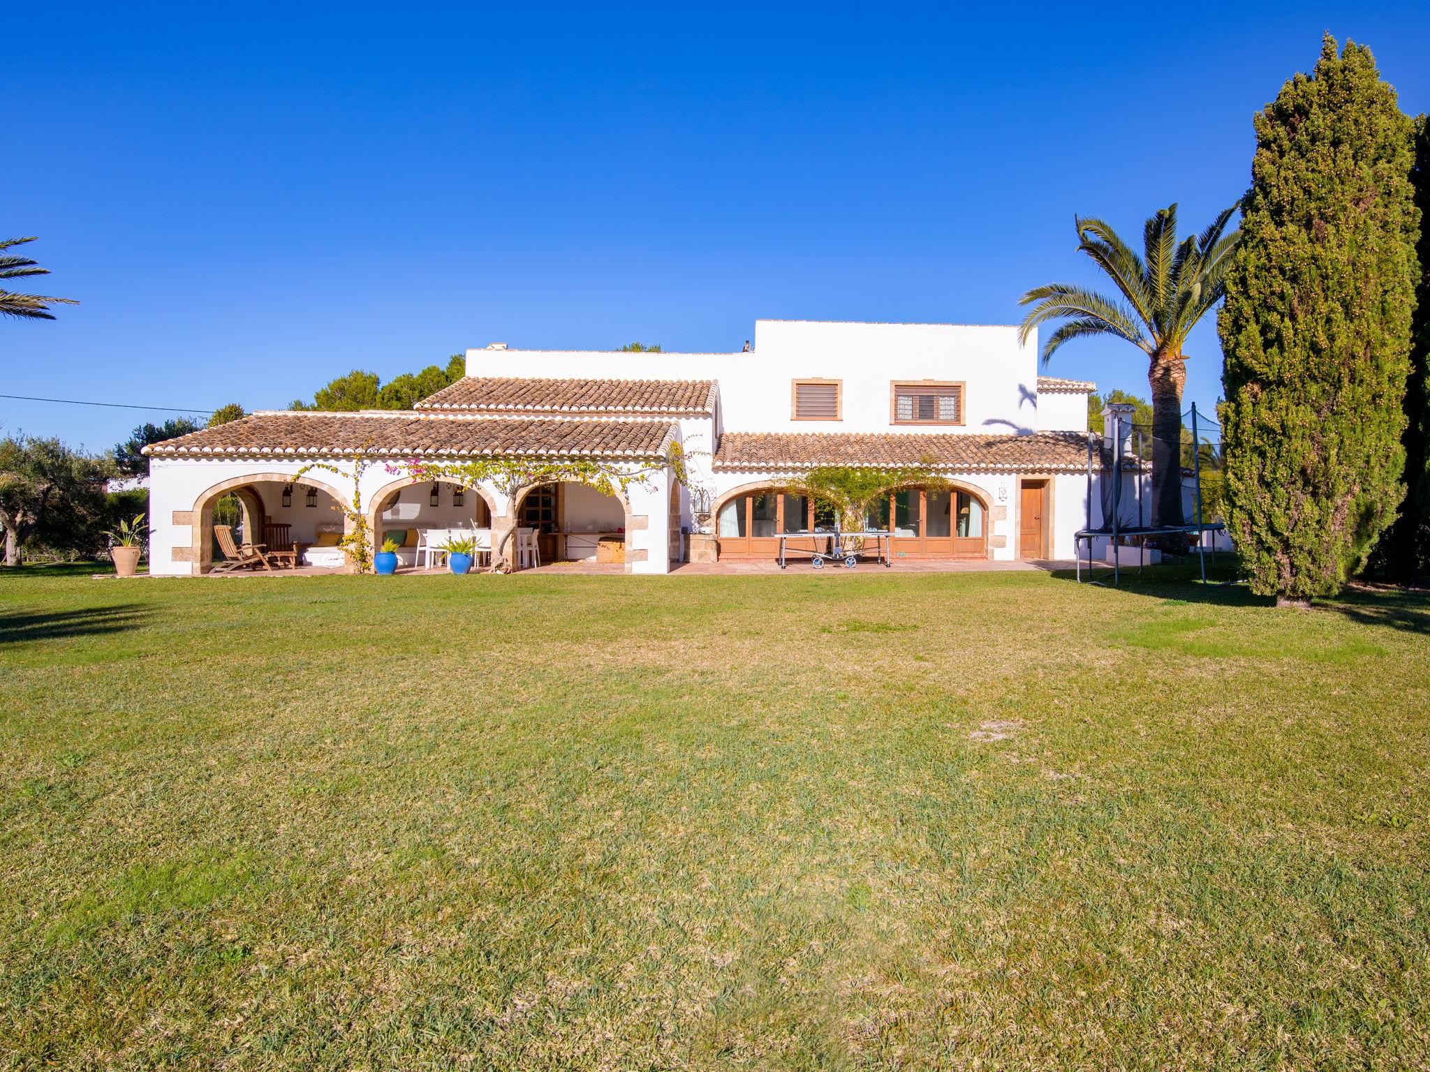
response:
<path fill-rule="evenodd" d="M 1419 287 L 1406 380 L 1406 500 L 1370 559 L 1376 576 L 1403 585 L 1430 576 L 1430 121 L 1416 120 L 1416 166 L 1410 173 L 1420 209 Z"/>

